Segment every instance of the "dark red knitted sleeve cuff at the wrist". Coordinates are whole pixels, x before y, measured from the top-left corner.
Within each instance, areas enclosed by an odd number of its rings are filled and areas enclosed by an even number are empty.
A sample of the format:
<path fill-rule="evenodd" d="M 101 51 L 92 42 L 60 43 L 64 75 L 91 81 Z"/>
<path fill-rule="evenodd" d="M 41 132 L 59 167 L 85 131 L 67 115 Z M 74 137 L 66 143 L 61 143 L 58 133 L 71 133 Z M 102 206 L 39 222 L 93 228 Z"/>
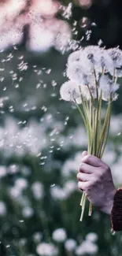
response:
<path fill-rule="evenodd" d="M 118 188 L 114 195 L 111 224 L 113 231 L 122 231 L 122 187 Z"/>

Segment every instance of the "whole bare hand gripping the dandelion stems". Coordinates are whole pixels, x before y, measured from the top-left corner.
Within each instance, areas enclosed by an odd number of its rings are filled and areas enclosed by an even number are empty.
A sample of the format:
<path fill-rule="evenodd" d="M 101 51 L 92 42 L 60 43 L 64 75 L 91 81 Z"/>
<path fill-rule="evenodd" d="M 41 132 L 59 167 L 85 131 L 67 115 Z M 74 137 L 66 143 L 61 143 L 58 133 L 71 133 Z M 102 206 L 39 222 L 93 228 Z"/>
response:
<path fill-rule="evenodd" d="M 99 210 L 110 214 L 116 188 L 109 166 L 84 151 L 77 179 L 79 180 L 79 189 L 85 192 L 89 201 Z"/>

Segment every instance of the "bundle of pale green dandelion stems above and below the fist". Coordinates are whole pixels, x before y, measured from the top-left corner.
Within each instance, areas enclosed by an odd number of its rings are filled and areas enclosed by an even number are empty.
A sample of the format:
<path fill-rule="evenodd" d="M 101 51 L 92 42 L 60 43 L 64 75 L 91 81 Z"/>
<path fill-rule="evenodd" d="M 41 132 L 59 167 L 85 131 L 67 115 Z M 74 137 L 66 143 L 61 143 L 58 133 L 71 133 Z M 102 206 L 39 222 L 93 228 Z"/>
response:
<path fill-rule="evenodd" d="M 110 117 L 111 117 L 111 105 L 112 105 L 112 97 L 109 95 L 109 102 L 107 102 L 108 106 L 105 112 L 105 117 L 102 120 L 102 90 L 98 91 L 98 83 L 95 80 L 96 84 L 96 98 L 93 98 L 91 94 L 91 89 L 89 88 L 91 98 L 86 100 L 83 98 L 81 93 L 81 89 L 79 87 L 80 96 L 82 100 L 82 105 L 78 105 L 76 103 L 77 108 L 79 109 L 79 113 L 83 118 L 83 122 L 87 131 L 87 138 L 88 138 L 88 148 L 87 153 L 93 154 L 98 158 L 102 158 L 102 155 L 105 150 L 105 145 L 108 140 L 109 135 L 109 124 L 110 124 Z M 83 192 L 80 206 L 82 207 L 80 221 L 83 221 L 83 213 L 85 210 L 87 196 L 85 192 Z M 90 203 L 89 206 L 89 213 L 88 215 L 91 216 L 92 213 L 92 205 Z"/>

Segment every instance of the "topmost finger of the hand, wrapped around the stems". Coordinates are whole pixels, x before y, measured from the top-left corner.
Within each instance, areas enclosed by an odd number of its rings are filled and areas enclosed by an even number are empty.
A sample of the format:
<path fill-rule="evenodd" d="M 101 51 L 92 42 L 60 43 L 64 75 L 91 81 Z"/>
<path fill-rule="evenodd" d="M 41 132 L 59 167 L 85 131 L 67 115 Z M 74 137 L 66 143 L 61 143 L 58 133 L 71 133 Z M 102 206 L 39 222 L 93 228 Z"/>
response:
<path fill-rule="evenodd" d="M 87 163 L 87 165 L 92 165 L 94 167 L 100 167 L 103 165 L 102 160 L 91 154 L 87 154 L 86 156 L 84 156 L 82 158 L 82 162 Z"/>

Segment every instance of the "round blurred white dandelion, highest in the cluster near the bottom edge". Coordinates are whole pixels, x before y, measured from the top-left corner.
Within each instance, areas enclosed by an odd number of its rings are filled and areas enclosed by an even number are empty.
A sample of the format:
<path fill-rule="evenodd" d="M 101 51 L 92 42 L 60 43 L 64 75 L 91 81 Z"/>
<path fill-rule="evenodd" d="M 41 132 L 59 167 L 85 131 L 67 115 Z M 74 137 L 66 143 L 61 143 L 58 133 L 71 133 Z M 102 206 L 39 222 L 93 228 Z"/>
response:
<path fill-rule="evenodd" d="M 56 230 L 54 230 L 54 232 L 52 234 L 52 238 L 54 239 L 54 241 L 56 241 L 58 243 L 65 242 L 65 239 L 67 238 L 65 229 L 57 228 Z"/>

